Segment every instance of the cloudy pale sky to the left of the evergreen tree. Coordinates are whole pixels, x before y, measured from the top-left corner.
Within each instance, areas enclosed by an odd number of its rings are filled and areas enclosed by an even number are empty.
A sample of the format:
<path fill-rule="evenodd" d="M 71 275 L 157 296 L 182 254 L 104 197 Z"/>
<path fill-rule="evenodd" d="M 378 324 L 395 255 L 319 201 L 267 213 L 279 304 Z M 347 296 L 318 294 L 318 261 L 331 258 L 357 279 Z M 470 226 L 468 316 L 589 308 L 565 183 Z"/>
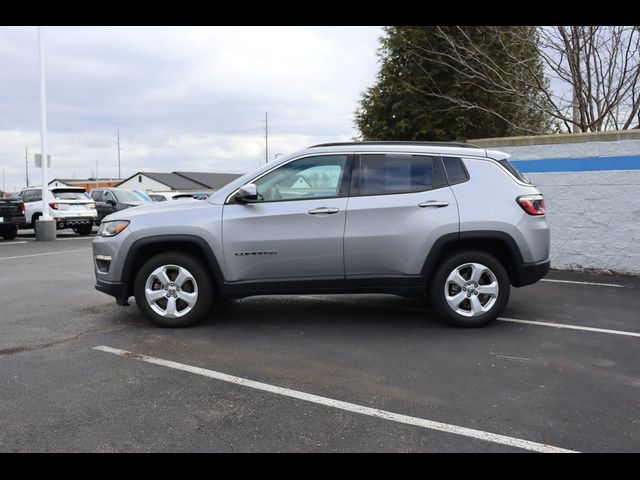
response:
<path fill-rule="evenodd" d="M 350 140 L 381 27 L 45 27 L 50 177 L 245 172 Z M 0 168 L 40 183 L 36 27 L 0 27 Z M 0 185 L 1 188 L 1 185 Z"/>

